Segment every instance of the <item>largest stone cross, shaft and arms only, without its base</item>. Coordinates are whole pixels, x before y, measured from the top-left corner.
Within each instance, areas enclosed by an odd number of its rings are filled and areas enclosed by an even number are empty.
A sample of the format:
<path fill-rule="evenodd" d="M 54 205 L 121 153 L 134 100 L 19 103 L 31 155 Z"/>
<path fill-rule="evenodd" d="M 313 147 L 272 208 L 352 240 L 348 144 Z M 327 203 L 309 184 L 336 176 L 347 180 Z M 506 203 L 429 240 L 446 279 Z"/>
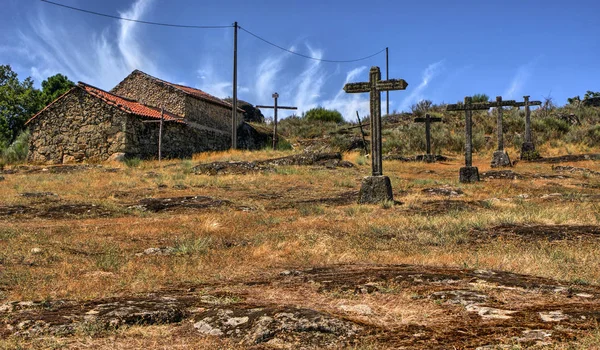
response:
<path fill-rule="evenodd" d="M 371 67 L 369 81 L 344 85 L 347 93 L 368 92 L 371 101 L 371 170 L 373 176 L 383 175 L 381 154 L 381 91 L 405 90 L 404 79 L 381 80 L 379 67 Z"/>

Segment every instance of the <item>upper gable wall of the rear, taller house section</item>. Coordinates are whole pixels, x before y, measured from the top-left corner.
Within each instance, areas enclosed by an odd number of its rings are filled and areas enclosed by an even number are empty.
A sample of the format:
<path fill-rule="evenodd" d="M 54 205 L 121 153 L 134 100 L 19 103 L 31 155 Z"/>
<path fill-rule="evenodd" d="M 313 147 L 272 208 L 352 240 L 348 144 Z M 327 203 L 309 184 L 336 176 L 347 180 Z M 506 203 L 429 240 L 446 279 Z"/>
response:
<path fill-rule="evenodd" d="M 186 93 L 142 72 L 134 71 L 110 92 L 148 106 L 163 107 L 182 117 L 186 115 L 186 99 L 189 98 Z"/>

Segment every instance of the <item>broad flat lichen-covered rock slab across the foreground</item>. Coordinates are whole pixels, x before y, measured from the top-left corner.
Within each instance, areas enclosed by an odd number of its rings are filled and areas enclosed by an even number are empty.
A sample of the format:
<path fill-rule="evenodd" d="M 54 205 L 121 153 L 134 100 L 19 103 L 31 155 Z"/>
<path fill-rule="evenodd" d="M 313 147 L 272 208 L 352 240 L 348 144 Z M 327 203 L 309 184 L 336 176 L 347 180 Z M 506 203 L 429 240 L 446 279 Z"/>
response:
<path fill-rule="evenodd" d="M 492 349 L 540 339 L 558 344 L 589 334 L 600 321 L 600 287 L 498 270 L 344 264 L 198 288 L 89 302 L 9 302 L 0 305 L 0 336 L 109 337 L 127 325 L 166 324 L 181 336 L 244 347 Z M 396 322 L 398 310 L 430 316 Z"/>

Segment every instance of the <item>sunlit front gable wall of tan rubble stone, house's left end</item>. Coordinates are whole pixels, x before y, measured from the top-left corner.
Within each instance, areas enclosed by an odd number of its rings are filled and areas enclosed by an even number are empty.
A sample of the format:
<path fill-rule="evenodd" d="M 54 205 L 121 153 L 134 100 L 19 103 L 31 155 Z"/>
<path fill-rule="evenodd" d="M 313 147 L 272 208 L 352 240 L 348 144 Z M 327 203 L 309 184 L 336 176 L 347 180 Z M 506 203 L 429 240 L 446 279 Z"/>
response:
<path fill-rule="evenodd" d="M 103 161 L 125 151 L 127 113 L 73 89 L 33 119 L 28 160 L 60 164 Z"/>

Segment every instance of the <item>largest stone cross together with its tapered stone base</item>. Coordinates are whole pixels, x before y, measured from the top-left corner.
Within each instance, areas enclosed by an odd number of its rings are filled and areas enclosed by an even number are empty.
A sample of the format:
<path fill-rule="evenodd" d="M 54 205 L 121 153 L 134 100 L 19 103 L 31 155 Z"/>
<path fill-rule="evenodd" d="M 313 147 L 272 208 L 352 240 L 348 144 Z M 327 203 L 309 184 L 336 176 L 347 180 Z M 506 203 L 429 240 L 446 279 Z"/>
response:
<path fill-rule="evenodd" d="M 347 93 L 369 93 L 371 105 L 371 176 L 365 177 L 360 188 L 359 203 L 378 203 L 393 200 L 392 184 L 383 176 L 381 154 L 381 91 L 405 90 L 404 79 L 381 80 L 379 67 L 371 67 L 369 81 L 344 85 Z"/>

